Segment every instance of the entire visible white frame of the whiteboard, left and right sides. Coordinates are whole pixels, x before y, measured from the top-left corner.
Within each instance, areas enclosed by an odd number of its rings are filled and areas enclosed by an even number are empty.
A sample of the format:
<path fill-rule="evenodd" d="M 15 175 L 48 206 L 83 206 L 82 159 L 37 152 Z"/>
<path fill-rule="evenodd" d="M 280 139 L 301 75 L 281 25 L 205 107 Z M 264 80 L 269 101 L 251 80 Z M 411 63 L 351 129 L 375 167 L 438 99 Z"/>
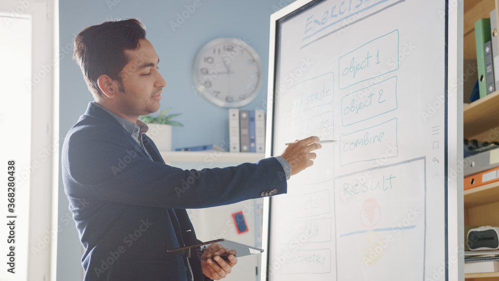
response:
<path fill-rule="evenodd" d="M 314 0 L 297 0 L 270 15 L 270 38 L 268 53 L 267 83 L 267 124 L 265 157 L 275 155 L 273 142 L 274 109 L 274 74 L 277 20 Z M 322 1 L 322 0 L 317 0 Z M 463 187 L 463 1 L 445 0 L 446 2 L 446 63 L 447 72 L 444 81 L 446 95 L 446 265 L 445 280 L 464 281 L 464 187 Z M 462 80 L 461 80 L 462 81 Z M 263 202 L 262 248 L 260 281 L 268 281 L 269 230 L 271 198 Z"/>

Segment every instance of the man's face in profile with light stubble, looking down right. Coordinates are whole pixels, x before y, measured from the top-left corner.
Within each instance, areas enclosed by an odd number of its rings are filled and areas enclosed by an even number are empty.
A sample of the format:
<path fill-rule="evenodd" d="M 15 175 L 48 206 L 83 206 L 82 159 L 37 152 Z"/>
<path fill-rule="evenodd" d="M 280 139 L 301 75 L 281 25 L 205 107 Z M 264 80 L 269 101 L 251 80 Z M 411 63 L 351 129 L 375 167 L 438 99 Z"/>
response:
<path fill-rule="evenodd" d="M 117 102 L 128 116 L 147 115 L 160 107 L 161 90 L 166 82 L 158 72 L 159 57 L 147 39 L 139 40 L 136 50 L 125 50 L 129 62 L 121 71 L 122 87 Z"/>

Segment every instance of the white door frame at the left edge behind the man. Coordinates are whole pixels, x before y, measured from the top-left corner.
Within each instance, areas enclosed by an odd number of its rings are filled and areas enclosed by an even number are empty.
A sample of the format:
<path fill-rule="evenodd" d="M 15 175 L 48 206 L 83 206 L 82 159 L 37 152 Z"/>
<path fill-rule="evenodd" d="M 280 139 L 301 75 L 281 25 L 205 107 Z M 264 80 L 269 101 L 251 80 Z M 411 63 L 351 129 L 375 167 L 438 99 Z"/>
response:
<path fill-rule="evenodd" d="M 16 268 L 16 271 L 26 271 L 27 280 L 55 281 L 59 145 L 63 141 L 58 136 L 59 61 L 54 47 L 58 46 L 59 37 L 58 1 L 2 0 L 0 14 L 14 18 L 27 15 L 32 30 L 30 164 L 33 169 L 29 171 L 27 269 Z"/>

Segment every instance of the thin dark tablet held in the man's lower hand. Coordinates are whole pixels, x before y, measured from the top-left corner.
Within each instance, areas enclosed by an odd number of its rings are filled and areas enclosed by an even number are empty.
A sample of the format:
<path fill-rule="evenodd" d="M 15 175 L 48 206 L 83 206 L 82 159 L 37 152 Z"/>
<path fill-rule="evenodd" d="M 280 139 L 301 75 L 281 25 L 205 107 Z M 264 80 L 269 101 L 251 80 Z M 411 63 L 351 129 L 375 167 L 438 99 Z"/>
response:
<path fill-rule="evenodd" d="M 187 246 L 187 247 L 182 247 L 182 248 L 177 248 L 177 249 L 171 249 L 167 250 L 167 253 L 172 253 L 176 255 L 181 255 L 187 258 L 191 258 L 193 255 L 203 255 L 203 251 L 208 248 L 212 244 L 219 244 L 224 248 L 227 248 L 229 250 L 236 250 L 236 257 L 244 257 L 244 256 L 249 256 L 253 254 L 260 254 L 263 252 L 263 249 L 252 247 L 249 245 L 237 243 L 234 241 L 226 240 L 226 239 L 217 239 L 213 241 L 208 241 L 205 243 L 193 245 L 193 246 Z"/>

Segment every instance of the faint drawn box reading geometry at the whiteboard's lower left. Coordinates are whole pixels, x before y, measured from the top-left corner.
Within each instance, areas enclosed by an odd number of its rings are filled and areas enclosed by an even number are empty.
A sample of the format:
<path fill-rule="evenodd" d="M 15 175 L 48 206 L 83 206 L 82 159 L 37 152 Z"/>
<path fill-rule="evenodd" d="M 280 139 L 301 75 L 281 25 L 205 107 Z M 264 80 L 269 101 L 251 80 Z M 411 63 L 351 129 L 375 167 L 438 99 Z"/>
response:
<path fill-rule="evenodd" d="M 330 272 L 331 249 L 293 251 L 281 268 L 281 275 L 324 274 Z"/>

